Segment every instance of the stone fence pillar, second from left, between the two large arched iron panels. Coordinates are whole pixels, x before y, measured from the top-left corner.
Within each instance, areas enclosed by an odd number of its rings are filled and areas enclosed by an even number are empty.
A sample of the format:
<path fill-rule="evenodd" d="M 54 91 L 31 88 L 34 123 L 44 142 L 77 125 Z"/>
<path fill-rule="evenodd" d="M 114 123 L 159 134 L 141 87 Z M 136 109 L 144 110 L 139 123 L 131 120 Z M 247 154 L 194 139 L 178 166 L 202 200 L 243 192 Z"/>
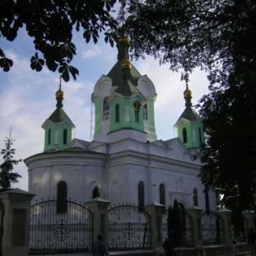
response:
<path fill-rule="evenodd" d="M 110 202 L 96 197 L 91 201 L 85 203 L 85 205 L 92 211 L 93 223 L 92 223 L 92 241 L 97 240 L 97 235 L 101 233 L 103 235 L 103 241 L 108 247 L 108 225 L 106 221 L 106 212 Z"/>

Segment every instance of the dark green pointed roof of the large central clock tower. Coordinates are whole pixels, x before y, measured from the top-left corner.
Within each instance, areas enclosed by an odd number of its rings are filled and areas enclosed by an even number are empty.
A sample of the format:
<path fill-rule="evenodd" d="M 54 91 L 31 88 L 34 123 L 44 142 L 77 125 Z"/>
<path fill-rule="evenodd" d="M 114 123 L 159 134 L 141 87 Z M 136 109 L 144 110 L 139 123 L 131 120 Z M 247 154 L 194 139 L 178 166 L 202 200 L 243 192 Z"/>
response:
<path fill-rule="evenodd" d="M 121 70 L 121 63 L 122 60 L 118 60 L 107 76 L 111 78 L 113 86 L 118 86 L 116 92 L 119 92 L 124 96 L 130 96 L 132 92 L 136 91 L 134 86 L 138 85 L 138 79 L 141 75 L 139 71 L 132 65 L 132 69 L 130 71 L 131 75 L 129 78 L 124 79 L 124 71 Z"/>

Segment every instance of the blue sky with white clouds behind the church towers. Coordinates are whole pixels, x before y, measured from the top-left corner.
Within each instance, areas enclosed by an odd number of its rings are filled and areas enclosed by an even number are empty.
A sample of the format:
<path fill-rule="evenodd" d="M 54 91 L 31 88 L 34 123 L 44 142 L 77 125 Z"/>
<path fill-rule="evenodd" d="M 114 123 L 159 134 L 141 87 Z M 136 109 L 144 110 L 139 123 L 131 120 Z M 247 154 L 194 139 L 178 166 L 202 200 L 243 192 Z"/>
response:
<path fill-rule="evenodd" d="M 101 75 L 107 75 L 117 61 L 117 48 L 106 44 L 103 36 L 97 44 L 85 43 L 82 33 L 73 36 L 76 56 L 71 65 L 79 69 L 76 81 L 70 78 L 62 82 L 64 91 L 63 109 L 76 125 L 75 137 L 91 140 L 91 94 Z M 30 68 L 30 58 L 35 54 L 32 38 L 24 29 L 19 31 L 13 42 L 0 37 L 0 45 L 6 57 L 13 60 L 9 72 L 0 70 L 0 149 L 10 133 L 15 139 L 15 159 L 26 159 L 40 153 L 44 148 L 44 130 L 41 125 L 56 108 L 55 92 L 59 88 L 59 73 L 46 67 L 41 72 Z M 40 55 L 39 55 L 40 57 Z M 168 64 L 159 66 L 158 60 L 146 56 L 145 60 L 132 61 L 141 75 L 147 75 L 156 87 L 155 125 L 157 139 L 175 137 L 173 125 L 185 108 L 184 81 L 180 73 L 169 70 Z M 196 69 L 188 84 L 192 91 L 192 104 L 208 93 L 208 81 L 204 71 Z M 2 163 L 0 156 L 0 164 Z M 22 162 L 14 172 L 22 176 L 13 188 L 28 190 L 28 172 Z"/>

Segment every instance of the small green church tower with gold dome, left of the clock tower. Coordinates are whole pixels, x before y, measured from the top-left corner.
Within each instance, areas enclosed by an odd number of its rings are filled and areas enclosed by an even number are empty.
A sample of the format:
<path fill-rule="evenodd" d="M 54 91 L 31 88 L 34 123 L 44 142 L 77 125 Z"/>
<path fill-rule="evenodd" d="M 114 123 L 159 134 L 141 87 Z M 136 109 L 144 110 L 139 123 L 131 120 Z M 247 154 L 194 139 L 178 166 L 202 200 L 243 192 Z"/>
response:
<path fill-rule="evenodd" d="M 66 149 L 74 137 L 75 124 L 62 109 L 64 92 L 61 90 L 61 78 L 60 88 L 55 95 L 57 100 L 56 109 L 42 125 L 45 134 L 44 151 Z"/>

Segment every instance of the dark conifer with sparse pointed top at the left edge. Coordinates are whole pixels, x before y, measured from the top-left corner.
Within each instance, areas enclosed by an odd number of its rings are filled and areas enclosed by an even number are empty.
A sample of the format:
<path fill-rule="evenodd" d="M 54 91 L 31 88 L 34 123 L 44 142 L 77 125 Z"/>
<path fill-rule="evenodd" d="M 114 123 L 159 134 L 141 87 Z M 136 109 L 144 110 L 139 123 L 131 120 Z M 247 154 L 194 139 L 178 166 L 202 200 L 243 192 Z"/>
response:
<path fill-rule="evenodd" d="M 1 150 L 1 155 L 3 155 L 4 163 L 0 165 L 0 190 L 7 190 L 11 188 L 11 183 L 18 182 L 18 178 L 21 175 L 17 172 L 12 172 L 14 165 L 19 164 L 22 160 L 13 159 L 16 149 L 12 148 L 13 142 L 15 141 L 11 137 L 12 128 L 10 130 L 9 137 L 4 140 L 5 148 Z"/>

